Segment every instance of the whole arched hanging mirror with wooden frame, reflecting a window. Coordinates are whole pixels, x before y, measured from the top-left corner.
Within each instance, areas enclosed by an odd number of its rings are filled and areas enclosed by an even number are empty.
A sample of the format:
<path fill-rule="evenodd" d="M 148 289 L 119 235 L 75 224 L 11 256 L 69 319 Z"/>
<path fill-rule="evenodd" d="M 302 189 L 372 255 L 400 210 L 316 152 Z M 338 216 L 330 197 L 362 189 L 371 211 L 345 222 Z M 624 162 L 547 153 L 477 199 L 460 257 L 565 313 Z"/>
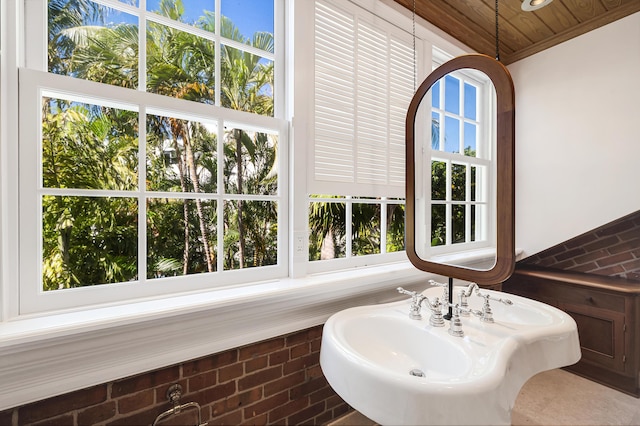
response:
<path fill-rule="evenodd" d="M 406 121 L 406 250 L 416 268 L 478 284 L 512 274 L 514 122 L 513 81 L 489 56 L 454 58 L 417 89 Z"/>

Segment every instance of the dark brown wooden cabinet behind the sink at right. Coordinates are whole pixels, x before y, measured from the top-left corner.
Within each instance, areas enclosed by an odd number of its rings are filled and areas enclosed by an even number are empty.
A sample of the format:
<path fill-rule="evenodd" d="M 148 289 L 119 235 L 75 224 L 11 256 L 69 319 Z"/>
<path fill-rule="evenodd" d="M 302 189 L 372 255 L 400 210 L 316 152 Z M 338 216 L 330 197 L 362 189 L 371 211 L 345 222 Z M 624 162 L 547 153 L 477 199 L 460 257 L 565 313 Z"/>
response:
<path fill-rule="evenodd" d="M 582 358 L 567 370 L 640 397 L 640 283 L 519 266 L 502 290 L 573 317 Z"/>

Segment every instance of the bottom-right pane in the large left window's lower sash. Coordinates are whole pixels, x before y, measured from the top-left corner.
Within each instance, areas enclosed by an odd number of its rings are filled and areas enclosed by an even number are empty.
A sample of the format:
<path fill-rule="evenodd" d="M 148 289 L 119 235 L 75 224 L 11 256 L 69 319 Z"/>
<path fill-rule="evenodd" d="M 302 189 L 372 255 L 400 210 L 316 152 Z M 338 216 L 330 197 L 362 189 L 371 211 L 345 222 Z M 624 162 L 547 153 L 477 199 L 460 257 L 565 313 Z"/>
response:
<path fill-rule="evenodd" d="M 224 210 L 224 269 L 277 264 L 278 204 L 234 200 Z"/>

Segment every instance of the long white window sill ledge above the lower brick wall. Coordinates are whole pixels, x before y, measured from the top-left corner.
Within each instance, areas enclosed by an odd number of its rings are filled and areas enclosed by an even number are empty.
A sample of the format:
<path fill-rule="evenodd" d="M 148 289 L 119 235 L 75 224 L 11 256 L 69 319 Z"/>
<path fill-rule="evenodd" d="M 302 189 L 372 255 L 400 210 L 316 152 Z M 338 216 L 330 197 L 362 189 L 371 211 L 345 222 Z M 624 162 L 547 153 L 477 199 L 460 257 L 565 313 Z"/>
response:
<path fill-rule="evenodd" d="M 430 278 L 404 261 L 0 323 L 0 410 L 323 324 Z"/>

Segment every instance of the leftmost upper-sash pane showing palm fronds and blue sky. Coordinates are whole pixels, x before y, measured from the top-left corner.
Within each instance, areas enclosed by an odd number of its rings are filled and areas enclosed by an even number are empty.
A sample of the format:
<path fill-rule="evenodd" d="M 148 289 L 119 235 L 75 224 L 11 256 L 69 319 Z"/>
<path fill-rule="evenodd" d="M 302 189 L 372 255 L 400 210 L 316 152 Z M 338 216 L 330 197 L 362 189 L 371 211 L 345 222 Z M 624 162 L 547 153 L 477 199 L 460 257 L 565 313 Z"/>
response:
<path fill-rule="evenodd" d="M 49 2 L 49 72 L 138 86 L 138 18 L 87 2 Z"/>

